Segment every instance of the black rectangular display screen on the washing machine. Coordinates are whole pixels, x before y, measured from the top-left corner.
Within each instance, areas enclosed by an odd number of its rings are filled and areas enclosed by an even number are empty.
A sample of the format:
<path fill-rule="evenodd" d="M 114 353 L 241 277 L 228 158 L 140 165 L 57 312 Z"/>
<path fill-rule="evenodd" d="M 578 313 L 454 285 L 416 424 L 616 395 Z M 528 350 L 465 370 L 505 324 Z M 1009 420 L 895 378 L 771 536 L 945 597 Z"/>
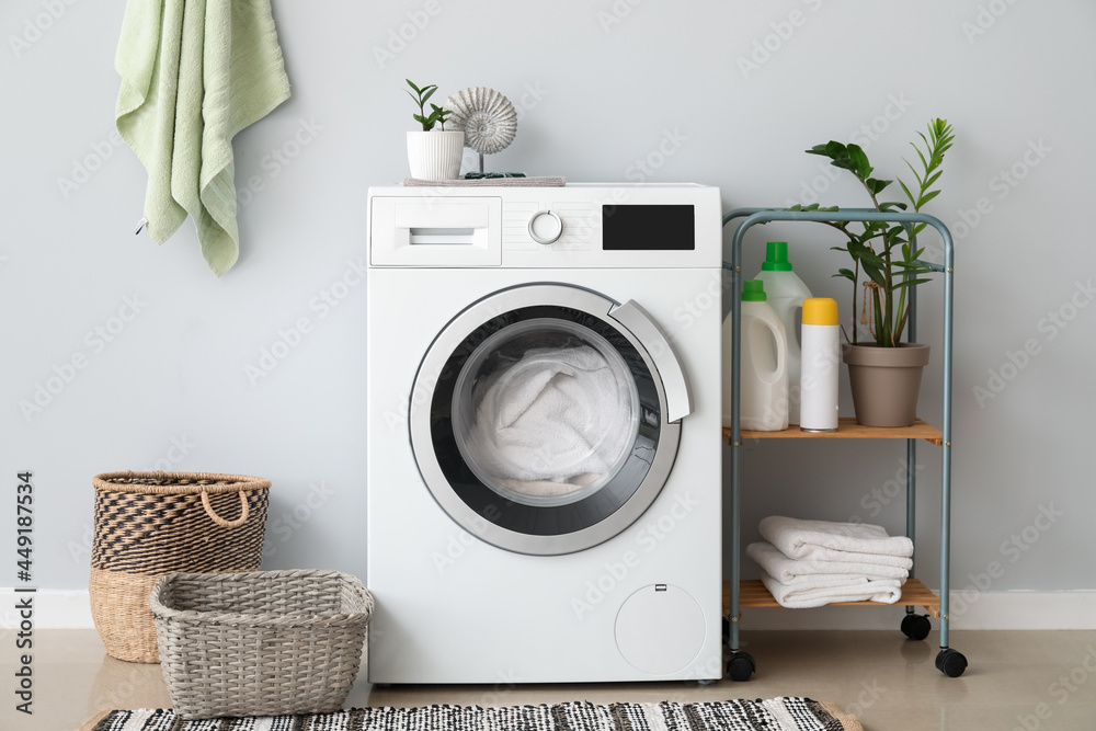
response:
<path fill-rule="evenodd" d="M 690 205 L 602 206 L 604 251 L 693 251 L 696 216 Z"/>

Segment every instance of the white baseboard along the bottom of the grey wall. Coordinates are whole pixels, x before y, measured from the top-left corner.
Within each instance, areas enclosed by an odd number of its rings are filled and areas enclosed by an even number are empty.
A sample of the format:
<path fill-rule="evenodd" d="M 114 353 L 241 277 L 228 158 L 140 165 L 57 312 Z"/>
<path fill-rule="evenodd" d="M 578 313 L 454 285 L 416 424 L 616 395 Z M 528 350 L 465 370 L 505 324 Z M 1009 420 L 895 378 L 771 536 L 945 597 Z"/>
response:
<path fill-rule="evenodd" d="M 35 629 L 94 625 L 87 590 L 42 589 L 33 594 L 0 589 L 0 635 L 18 629 L 18 602 L 32 597 Z M 924 609 L 918 608 L 918 612 Z M 756 608 L 742 613 L 742 630 L 895 629 L 904 607 Z M 952 629 L 1096 629 L 1096 591 L 951 593 Z"/>

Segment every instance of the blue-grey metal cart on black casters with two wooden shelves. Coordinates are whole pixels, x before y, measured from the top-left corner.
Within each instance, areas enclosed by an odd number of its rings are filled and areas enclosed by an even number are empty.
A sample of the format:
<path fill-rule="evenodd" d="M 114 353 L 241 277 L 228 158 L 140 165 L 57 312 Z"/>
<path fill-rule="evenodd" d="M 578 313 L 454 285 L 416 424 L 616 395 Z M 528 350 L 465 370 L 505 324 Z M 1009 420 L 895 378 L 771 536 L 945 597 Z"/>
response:
<path fill-rule="evenodd" d="M 899 605 L 905 606 L 905 617 L 902 619 L 902 632 L 914 640 L 924 640 L 928 637 L 931 624 L 928 616 L 939 619 L 940 624 L 940 651 L 936 655 L 936 667 L 949 677 L 962 675 L 967 669 L 967 659 L 958 650 L 949 647 L 949 564 L 950 564 L 950 542 L 951 542 L 951 336 L 952 336 L 952 305 L 954 305 L 954 283 L 955 283 L 955 253 L 951 233 L 947 227 L 936 217 L 926 214 L 887 213 L 881 214 L 875 209 L 846 208 L 836 212 L 802 212 L 802 210 L 779 210 L 773 208 L 738 208 L 723 216 L 726 227 L 732 220 L 744 218 L 734 232 L 732 243 L 732 254 L 730 264 L 724 267 L 731 272 L 731 317 L 733 318 L 733 339 L 731 345 L 730 367 L 734 374 L 732 378 L 732 401 L 735 404 L 731 427 L 723 430 L 723 441 L 731 447 L 731 578 L 723 586 L 723 609 L 727 613 L 728 621 L 724 626 L 727 644 L 730 649 L 730 660 L 727 663 L 727 673 L 734 681 L 746 681 L 756 669 L 754 659 L 747 652 L 739 648 L 739 617 L 742 608 L 779 606 L 768 590 L 760 581 L 741 580 L 741 512 L 740 512 L 740 454 L 743 438 L 883 438 L 883 439 L 905 439 L 906 442 L 906 536 L 914 540 L 916 545 L 916 444 L 918 439 L 925 439 L 929 444 L 938 446 L 941 453 L 940 473 L 940 595 L 933 594 L 924 583 L 915 579 L 913 571 L 910 579 L 902 587 L 902 596 L 898 601 Z M 853 221 L 883 221 L 888 224 L 900 224 L 910 227 L 914 224 L 927 224 L 936 229 L 944 243 L 944 264 L 921 261 L 918 263 L 932 269 L 936 273 L 944 275 L 944 426 L 937 429 L 922 420 L 917 420 L 912 426 L 902 429 L 880 429 L 872 426 L 860 426 L 855 419 L 841 419 L 836 432 L 831 433 L 804 433 L 798 429 L 788 429 L 784 432 L 743 432 L 739 420 L 739 408 L 741 403 L 741 295 L 742 295 L 742 242 L 747 230 L 758 224 L 770 221 L 813 221 L 813 222 L 853 222 Z M 907 322 L 909 340 L 913 342 L 917 336 L 917 288 L 910 287 L 910 318 Z M 876 602 L 852 602 L 842 604 L 872 605 Z M 881 605 L 886 606 L 886 605 Z M 923 606 L 928 614 L 915 614 L 915 607 Z"/>

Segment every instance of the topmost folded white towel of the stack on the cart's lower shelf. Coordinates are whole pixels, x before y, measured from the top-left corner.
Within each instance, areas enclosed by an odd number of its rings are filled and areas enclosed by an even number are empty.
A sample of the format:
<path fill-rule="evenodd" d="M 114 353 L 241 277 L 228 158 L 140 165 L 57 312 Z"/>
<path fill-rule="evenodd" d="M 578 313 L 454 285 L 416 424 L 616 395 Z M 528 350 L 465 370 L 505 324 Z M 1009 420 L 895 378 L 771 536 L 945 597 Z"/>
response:
<path fill-rule="evenodd" d="M 913 567 L 913 541 L 905 536 L 888 536 L 878 525 L 772 515 L 762 519 L 760 529 L 788 558 L 855 561 L 906 570 Z"/>

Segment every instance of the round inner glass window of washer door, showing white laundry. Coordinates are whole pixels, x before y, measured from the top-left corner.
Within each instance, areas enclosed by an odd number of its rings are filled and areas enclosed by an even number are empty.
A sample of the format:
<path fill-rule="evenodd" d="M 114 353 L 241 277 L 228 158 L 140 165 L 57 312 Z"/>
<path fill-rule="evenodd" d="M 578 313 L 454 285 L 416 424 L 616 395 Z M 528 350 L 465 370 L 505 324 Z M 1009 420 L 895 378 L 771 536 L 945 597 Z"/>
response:
<path fill-rule="evenodd" d="M 597 492 L 628 459 L 639 393 L 605 338 L 532 319 L 472 352 L 452 413 L 460 455 L 483 484 L 513 502 L 563 505 Z"/>

